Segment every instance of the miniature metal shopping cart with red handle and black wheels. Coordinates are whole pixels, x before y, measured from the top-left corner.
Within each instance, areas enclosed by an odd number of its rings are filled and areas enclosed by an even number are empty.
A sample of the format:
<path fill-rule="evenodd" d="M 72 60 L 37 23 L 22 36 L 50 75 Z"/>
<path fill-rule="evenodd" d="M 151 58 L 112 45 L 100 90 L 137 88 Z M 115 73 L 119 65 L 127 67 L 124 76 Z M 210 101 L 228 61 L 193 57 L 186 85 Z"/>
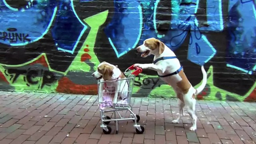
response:
<path fill-rule="evenodd" d="M 132 72 L 132 70 L 135 70 Z M 124 79 L 116 79 L 115 82 L 120 81 L 120 84 L 124 84 L 123 82 L 127 82 L 126 85 L 121 86 L 120 85 L 120 91 L 118 93 L 127 94 L 127 97 L 125 99 L 118 99 L 113 98 L 113 100 L 107 100 L 104 95 L 112 96 L 117 92 L 115 90 L 113 91 L 99 91 L 100 85 L 104 85 L 104 87 L 107 87 L 107 81 L 98 81 L 98 100 L 99 100 L 99 106 L 100 106 L 100 116 L 101 116 L 101 125 L 100 127 L 103 128 L 104 134 L 110 134 L 112 129 L 110 126 L 107 126 L 110 122 L 114 121 L 116 125 L 116 134 L 118 134 L 118 121 L 119 120 L 132 120 L 134 122 L 134 127 L 137 132 L 137 134 L 143 134 L 144 127 L 141 125 L 138 125 L 137 123 L 140 121 L 140 116 L 135 115 L 134 112 L 132 112 L 132 106 L 130 104 L 131 102 L 131 96 L 132 96 L 132 88 L 134 85 L 134 78 L 135 76 L 139 75 L 142 72 L 142 69 L 134 66 L 130 66 L 125 72 L 124 75 L 126 78 Z M 128 85 L 128 88 L 124 88 Z M 109 116 L 105 116 L 104 113 L 108 112 L 114 112 L 114 119 L 111 119 Z M 129 112 L 129 115 L 127 116 L 127 112 Z"/>

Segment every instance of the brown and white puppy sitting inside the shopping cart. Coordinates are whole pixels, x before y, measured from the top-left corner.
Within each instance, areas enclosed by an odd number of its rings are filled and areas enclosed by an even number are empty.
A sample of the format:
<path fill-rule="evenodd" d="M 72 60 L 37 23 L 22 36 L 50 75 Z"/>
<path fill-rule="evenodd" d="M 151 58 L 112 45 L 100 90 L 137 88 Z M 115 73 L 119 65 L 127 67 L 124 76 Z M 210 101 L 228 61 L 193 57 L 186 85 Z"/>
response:
<path fill-rule="evenodd" d="M 128 82 L 120 80 L 126 77 L 117 66 L 102 62 L 99 64 L 97 71 L 93 72 L 92 76 L 101 82 L 99 86 L 100 98 L 103 96 L 103 90 L 115 93 L 114 97 L 112 97 L 113 103 L 128 97 Z M 103 81 L 105 82 L 103 83 Z M 100 100 L 99 102 L 101 102 Z"/>

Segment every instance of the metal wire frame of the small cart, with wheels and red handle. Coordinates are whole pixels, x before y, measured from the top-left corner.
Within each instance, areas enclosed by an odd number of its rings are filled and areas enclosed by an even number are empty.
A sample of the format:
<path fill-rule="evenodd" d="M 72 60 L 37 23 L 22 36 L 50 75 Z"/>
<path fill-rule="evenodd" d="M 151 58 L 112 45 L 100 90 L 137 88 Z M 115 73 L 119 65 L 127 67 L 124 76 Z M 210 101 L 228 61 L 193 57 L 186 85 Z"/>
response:
<path fill-rule="evenodd" d="M 132 72 L 132 70 L 134 70 L 134 72 Z M 134 86 L 134 79 L 135 76 L 139 75 L 142 72 L 142 69 L 138 68 L 138 67 L 134 67 L 134 65 L 130 66 L 128 69 L 125 70 L 124 74 L 126 76 L 126 78 L 124 79 L 116 79 L 115 82 L 117 81 L 127 81 L 128 82 L 128 91 L 124 91 L 123 88 L 121 88 L 120 91 L 110 91 L 107 93 L 127 93 L 127 103 L 123 104 L 123 103 L 118 103 L 118 97 L 116 97 L 117 95 L 115 95 L 114 99 L 113 99 L 113 105 L 110 107 L 107 107 L 106 109 L 100 109 L 100 119 L 101 119 L 101 125 L 100 127 L 103 128 L 103 132 L 104 134 L 110 134 L 112 129 L 107 126 L 107 124 L 109 124 L 110 122 L 114 121 L 115 122 L 115 126 L 116 126 L 116 134 L 118 134 L 118 121 L 120 120 L 132 120 L 134 122 L 134 127 L 135 130 L 137 132 L 137 134 L 143 134 L 144 132 L 144 127 L 139 125 L 138 122 L 140 121 L 140 116 L 136 115 L 133 111 L 132 111 L 132 106 L 130 104 L 131 102 L 131 96 L 132 96 L 132 89 Z M 101 92 L 99 91 L 99 87 L 100 84 L 106 84 L 107 81 L 100 81 L 98 80 L 98 100 L 99 100 L 99 106 L 100 104 L 104 104 L 105 102 L 103 102 L 103 93 L 105 92 Z M 121 85 L 119 85 L 121 86 Z M 105 103 L 106 104 L 106 103 Z M 122 116 L 121 113 L 119 113 L 119 111 L 124 111 L 126 110 L 125 114 Z M 114 119 L 111 119 L 109 116 L 105 116 L 104 113 L 107 112 L 114 112 Z M 127 112 L 130 113 L 130 115 L 128 116 L 128 118 L 126 118 Z M 119 116 L 119 118 L 117 118 L 117 115 Z"/>

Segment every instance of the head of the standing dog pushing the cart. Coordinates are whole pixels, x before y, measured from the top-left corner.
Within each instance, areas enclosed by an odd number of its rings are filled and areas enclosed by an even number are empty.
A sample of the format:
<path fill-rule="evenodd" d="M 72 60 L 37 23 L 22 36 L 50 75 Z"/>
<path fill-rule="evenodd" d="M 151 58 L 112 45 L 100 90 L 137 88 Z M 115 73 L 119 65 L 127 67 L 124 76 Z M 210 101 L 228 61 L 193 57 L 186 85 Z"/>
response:
<path fill-rule="evenodd" d="M 143 44 L 136 49 L 139 53 L 142 53 L 141 57 L 147 57 L 150 54 L 162 54 L 165 50 L 165 44 L 156 38 L 149 38 L 144 40 Z"/>

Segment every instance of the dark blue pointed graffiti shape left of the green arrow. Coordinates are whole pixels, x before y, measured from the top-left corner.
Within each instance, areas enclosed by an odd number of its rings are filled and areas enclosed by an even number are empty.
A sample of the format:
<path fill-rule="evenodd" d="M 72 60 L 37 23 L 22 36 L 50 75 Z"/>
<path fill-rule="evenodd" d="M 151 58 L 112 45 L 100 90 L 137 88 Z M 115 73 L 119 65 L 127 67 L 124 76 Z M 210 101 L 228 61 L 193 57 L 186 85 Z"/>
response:
<path fill-rule="evenodd" d="M 74 53 L 86 29 L 87 25 L 79 19 L 74 9 L 73 0 L 60 2 L 57 17 L 51 29 L 58 50 Z"/>

